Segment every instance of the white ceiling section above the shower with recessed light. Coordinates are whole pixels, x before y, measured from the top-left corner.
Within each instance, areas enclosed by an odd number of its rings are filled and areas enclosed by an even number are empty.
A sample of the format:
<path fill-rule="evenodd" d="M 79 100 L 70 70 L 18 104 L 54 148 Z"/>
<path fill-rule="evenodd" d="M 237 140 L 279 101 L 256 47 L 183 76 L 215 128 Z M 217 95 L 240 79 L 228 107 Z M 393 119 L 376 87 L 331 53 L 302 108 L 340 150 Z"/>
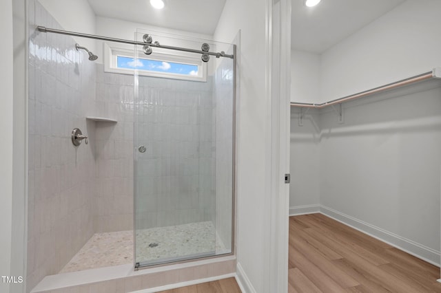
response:
<path fill-rule="evenodd" d="M 214 34 L 225 0 L 164 0 L 156 10 L 149 0 L 88 0 L 96 16 L 163 28 Z"/>

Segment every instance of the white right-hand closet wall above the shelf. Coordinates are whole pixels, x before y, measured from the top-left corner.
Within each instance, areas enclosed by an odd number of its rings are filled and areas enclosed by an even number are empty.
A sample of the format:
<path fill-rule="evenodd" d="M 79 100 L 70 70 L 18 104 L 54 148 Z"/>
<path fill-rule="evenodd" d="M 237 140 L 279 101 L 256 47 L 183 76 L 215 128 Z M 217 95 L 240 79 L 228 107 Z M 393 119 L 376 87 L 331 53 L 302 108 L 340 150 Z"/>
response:
<path fill-rule="evenodd" d="M 441 1 L 406 1 L 322 54 L 325 102 L 441 66 Z"/>

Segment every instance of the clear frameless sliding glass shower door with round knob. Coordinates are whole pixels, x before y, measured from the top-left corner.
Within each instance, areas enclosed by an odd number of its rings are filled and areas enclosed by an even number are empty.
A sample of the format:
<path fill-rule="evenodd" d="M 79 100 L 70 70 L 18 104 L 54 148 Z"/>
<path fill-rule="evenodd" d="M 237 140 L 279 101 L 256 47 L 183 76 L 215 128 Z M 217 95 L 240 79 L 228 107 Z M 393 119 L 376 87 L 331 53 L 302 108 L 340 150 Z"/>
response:
<path fill-rule="evenodd" d="M 145 34 L 196 50 L 204 43 L 142 30 L 137 39 Z M 136 267 L 230 253 L 234 62 L 154 46 L 136 56 Z"/>

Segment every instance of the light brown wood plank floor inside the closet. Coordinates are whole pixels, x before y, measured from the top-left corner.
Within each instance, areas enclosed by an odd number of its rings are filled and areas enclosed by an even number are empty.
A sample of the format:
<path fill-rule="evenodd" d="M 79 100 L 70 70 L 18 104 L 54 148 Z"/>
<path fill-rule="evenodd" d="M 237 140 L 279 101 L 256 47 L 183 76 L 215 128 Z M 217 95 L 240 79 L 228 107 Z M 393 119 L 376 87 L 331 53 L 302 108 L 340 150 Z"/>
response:
<path fill-rule="evenodd" d="M 441 292 L 440 268 L 321 214 L 289 218 L 289 292 Z"/>

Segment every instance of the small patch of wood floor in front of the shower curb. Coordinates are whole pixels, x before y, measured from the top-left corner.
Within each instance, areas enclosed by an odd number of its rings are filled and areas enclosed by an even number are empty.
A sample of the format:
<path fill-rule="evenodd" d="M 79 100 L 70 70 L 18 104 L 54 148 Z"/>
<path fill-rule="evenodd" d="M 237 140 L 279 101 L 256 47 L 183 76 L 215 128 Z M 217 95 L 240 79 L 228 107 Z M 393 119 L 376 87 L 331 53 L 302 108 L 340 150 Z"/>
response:
<path fill-rule="evenodd" d="M 173 290 L 161 291 L 161 293 L 240 293 L 236 279 L 228 278 L 198 285 L 181 287 Z"/>

